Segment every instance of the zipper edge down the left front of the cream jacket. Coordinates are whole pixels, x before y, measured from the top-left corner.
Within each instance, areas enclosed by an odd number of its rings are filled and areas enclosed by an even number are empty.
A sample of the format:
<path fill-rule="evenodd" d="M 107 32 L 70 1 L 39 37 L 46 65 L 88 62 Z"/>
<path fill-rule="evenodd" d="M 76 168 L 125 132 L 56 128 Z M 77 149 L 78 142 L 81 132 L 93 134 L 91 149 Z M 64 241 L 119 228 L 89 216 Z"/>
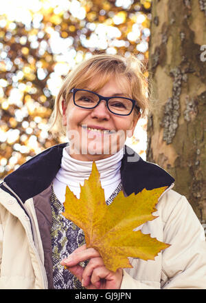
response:
<path fill-rule="evenodd" d="M 39 264 L 39 266 L 40 266 L 40 268 L 41 268 L 41 273 L 42 273 L 42 275 L 43 275 L 43 284 L 44 284 L 44 287 L 45 287 L 45 289 L 47 289 L 47 288 L 48 288 L 48 287 L 47 287 L 48 282 L 47 282 L 47 275 L 46 275 L 46 272 L 45 272 L 45 267 L 43 266 L 43 264 L 42 264 L 42 262 L 41 262 L 41 258 L 40 258 L 40 256 L 38 255 L 38 251 L 37 251 L 36 246 L 35 246 L 35 244 L 34 244 L 34 231 L 33 231 L 33 229 L 32 229 L 32 219 L 30 218 L 30 216 L 28 215 L 27 211 L 25 210 L 24 204 L 23 204 L 23 202 L 21 201 L 21 199 L 19 198 L 19 196 L 17 196 L 16 193 L 15 193 L 15 192 L 14 192 L 14 191 L 13 191 L 5 182 L 3 182 L 3 186 L 6 187 L 9 191 L 11 191 L 12 194 L 14 194 L 14 196 L 16 197 L 16 199 L 20 202 L 21 207 L 22 207 L 23 210 L 25 211 L 26 215 L 27 215 L 28 218 L 30 219 L 30 225 L 31 225 L 31 230 L 32 230 L 32 240 L 33 240 L 33 241 L 29 240 L 29 242 L 30 242 L 30 245 L 32 246 L 32 249 L 33 249 L 33 251 L 34 251 L 34 253 L 35 253 L 35 255 L 36 255 L 36 258 L 37 258 L 37 260 L 38 260 L 38 264 Z"/>

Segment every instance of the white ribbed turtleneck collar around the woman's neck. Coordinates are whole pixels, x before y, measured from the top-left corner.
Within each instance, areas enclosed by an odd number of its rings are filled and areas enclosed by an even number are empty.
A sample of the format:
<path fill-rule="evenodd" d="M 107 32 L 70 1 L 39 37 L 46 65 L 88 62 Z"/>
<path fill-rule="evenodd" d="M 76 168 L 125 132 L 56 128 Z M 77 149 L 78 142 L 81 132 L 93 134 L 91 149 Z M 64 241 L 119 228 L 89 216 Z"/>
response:
<path fill-rule="evenodd" d="M 100 173 L 100 181 L 104 189 L 105 200 L 107 200 L 121 181 L 120 167 L 124 149 L 116 154 L 102 160 L 95 161 Z M 61 167 L 53 180 L 54 193 L 60 202 L 65 202 L 65 192 L 69 189 L 77 198 L 80 198 L 80 185 L 91 174 L 92 161 L 80 161 L 69 155 L 69 146 L 63 149 Z"/>

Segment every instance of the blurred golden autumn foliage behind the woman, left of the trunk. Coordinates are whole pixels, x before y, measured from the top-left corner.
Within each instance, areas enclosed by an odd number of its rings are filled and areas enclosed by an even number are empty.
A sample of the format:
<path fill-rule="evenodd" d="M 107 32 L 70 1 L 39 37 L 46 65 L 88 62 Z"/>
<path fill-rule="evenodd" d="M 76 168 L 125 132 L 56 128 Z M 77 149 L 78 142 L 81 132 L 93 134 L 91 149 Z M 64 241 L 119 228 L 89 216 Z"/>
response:
<path fill-rule="evenodd" d="M 0 178 L 64 141 L 52 138 L 47 121 L 62 79 L 76 63 L 97 52 L 133 53 L 147 63 L 150 8 L 151 0 L 3 3 Z"/>

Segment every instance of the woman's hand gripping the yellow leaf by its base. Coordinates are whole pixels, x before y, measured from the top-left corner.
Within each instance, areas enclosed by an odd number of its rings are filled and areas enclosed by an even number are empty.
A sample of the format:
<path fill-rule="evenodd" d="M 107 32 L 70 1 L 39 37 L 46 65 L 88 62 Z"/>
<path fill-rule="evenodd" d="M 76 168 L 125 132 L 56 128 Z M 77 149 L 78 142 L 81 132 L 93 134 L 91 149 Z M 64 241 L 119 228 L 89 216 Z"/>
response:
<path fill-rule="evenodd" d="M 85 260 L 89 260 L 89 263 L 83 269 L 78 263 Z M 100 253 L 92 248 L 87 249 L 86 244 L 60 263 L 66 265 L 87 289 L 120 289 L 122 284 L 122 269 L 117 269 L 116 272 L 106 269 Z"/>

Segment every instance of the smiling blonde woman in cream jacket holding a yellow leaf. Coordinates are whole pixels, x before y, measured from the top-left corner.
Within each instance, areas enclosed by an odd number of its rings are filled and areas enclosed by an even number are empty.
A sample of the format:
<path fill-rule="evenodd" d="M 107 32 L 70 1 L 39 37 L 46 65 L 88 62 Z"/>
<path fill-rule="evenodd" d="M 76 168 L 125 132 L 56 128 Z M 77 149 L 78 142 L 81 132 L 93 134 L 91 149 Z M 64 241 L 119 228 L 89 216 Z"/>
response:
<path fill-rule="evenodd" d="M 8 289 L 204 289 L 203 227 L 174 179 L 124 145 L 149 108 L 137 59 L 100 54 L 65 79 L 54 105 L 51 132 L 63 143 L 27 161 L 1 184 L 1 279 Z M 65 189 L 79 198 L 95 161 L 106 204 L 119 191 L 167 186 L 155 220 L 141 231 L 170 243 L 153 260 L 130 258 L 132 269 L 109 271 L 84 233 L 62 216 Z"/>

